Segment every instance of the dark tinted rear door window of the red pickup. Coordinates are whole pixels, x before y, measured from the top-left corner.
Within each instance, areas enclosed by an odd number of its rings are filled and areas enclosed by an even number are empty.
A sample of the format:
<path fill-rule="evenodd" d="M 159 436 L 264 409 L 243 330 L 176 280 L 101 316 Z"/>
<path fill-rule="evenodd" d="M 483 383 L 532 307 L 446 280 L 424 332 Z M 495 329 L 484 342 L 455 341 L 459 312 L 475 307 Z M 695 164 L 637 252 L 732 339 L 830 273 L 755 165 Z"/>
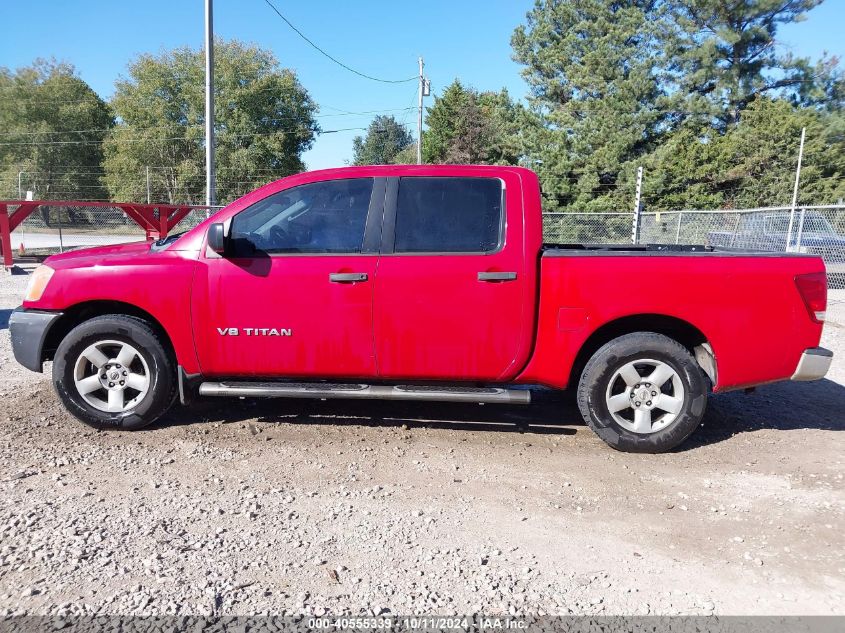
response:
<path fill-rule="evenodd" d="M 502 235 L 502 182 L 497 178 L 399 180 L 397 253 L 489 253 Z"/>

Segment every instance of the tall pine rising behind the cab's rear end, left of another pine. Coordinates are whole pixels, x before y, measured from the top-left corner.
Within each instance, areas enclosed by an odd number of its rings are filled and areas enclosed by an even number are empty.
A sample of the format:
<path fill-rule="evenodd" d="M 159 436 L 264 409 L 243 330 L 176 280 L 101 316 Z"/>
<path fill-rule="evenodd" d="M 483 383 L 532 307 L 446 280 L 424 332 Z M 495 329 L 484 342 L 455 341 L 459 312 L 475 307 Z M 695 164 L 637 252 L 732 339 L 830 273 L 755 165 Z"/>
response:
<path fill-rule="evenodd" d="M 527 159 L 551 209 L 611 210 L 631 199 L 629 163 L 657 147 L 669 120 L 664 4 L 536 0 L 514 32 L 538 118 Z"/>

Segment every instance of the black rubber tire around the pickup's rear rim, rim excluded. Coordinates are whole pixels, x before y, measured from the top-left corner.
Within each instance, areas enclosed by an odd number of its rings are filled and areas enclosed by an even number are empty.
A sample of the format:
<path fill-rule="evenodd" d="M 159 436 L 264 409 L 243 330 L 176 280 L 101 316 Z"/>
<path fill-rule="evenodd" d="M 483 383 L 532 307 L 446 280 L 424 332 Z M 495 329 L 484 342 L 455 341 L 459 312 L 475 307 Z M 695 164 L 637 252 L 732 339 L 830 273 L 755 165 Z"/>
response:
<path fill-rule="evenodd" d="M 665 363 L 675 371 L 684 389 L 683 405 L 674 420 L 659 430 L 647 433 L 636 433 L 617 422 L 608 406 L 610 390 L 625 389 L 629 384 L 618 377 L 617 372 L 629 363 L 641 360 L 646 364 L 635 366 L 638 372 L 647 369 L 651 360 Z M 610 384 L 611 381 L 613 384 Z M 672 386 L 666 389 L 671 393 Z M 708 391 L 707 377 L 684 346 L 662 334 L 636 332 L 610 341 L 593 355 L 581 373 L 577 400 L 584 421 L 612 448 L 627 453 L 663 453 L 680 445 L 701 424 Z M 631 392 L 635 390 L 624 391 L 629 397 Z M 631 397 L 632 402 L 635 399 L 636 395 Z M 653 412 L 649 412 L 649 420 Z M 656 413 L 665 415 L 660 409 Z M 627 409 L 618 412 L 619 417 L 626 414 Z M 631 414 L 634 414 L 634 407 L 631 407 Z M 628 426 L 633 426 L 633 422 Z"/>

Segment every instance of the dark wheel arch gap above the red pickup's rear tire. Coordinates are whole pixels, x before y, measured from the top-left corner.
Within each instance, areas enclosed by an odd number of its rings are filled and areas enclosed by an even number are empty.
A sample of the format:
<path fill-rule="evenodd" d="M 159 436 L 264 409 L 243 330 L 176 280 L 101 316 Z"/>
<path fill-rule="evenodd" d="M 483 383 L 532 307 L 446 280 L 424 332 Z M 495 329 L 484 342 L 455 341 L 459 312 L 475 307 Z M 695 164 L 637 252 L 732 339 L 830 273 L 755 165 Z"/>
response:
<path fill-rule="evenodd" d="M 587 361 L 606 343 L 615 338 L 636 332 L 662 334 L 683 345 L 693 355 L 699 366 L 716 384 L 716 358 L 707 336 L 689 321 L 665 314 L 632 314 L 609 321 L 597 328 L 578 350 L 569 374 L 569 384 L 578 383 Z"/>

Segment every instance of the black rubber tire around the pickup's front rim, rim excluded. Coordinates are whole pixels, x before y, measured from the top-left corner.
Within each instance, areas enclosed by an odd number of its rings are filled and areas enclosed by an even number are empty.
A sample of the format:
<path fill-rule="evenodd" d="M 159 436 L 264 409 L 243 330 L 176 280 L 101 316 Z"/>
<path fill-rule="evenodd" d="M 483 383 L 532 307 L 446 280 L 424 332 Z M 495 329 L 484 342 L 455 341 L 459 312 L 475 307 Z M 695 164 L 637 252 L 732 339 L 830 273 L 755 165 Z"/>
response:
<path fill-rule="evenodd" d="M 82 352 L 104 340 L 129 343 L 149 370 L 146 394 L 131 407 L 127 402 L 127 409 L 119 413 L 91 406 L 74 381 Z M 96 429 L 134 431 L 154 422 L 176 400 L 176 363 L 162 337 L 143 319 L 120 314 L 101 316 L 76 326 L 62 340 L 53 361 L 53 386 L 67 410 L 85 424 Z"/>

